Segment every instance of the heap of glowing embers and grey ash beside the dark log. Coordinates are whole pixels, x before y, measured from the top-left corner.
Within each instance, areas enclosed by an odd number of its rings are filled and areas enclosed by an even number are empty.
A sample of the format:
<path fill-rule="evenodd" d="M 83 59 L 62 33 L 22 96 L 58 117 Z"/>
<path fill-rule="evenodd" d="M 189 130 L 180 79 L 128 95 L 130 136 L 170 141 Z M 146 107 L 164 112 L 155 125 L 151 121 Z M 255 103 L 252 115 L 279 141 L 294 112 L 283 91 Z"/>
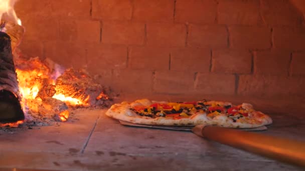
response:
<path fill-rule="evenodd" d="M 84 69 L 64 69 L 48 58 L 42 61 L 39 57 L 23 57 L 18 50 L 14 62 L 25 120 L 19 125 L 0 127 L 0 132 L 60 125 L 62 121 L 77 119 L 74 112 L 78 109 L 108 108 L 119 96 Z"/>

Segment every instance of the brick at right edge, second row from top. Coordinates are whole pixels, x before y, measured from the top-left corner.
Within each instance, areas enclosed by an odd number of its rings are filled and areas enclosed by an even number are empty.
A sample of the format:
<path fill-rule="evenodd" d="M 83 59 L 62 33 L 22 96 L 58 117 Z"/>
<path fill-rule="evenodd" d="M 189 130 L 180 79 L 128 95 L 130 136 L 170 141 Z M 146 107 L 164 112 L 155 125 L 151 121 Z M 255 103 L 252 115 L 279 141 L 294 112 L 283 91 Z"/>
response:
<path fill-rule="evenodd" d="M 305 49 L 305 29 L 296 27 L 274 27 L 273 46 L 279 49 Z"/>

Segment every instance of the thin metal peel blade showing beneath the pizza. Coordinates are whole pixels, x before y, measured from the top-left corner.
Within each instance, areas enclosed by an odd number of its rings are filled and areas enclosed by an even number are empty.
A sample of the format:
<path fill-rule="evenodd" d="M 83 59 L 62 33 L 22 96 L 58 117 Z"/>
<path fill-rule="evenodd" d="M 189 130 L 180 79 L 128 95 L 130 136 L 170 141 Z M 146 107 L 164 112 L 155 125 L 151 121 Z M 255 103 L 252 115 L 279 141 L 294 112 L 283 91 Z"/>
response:
<path fill-rule="evenodd" d="M 119 120 L 119 122 L 120 124 L 125 126 L 148 127 L 148 128 L 158 128 L 158 129 L 168 129 L 168 130 L 192 131 L 192 129 L 194 128 L 194 126 L 165 126 L 165 125 L 136 124 L 123 120 Z M 245 130 L 245 131 L 262 131 L 262 130 L 267 130 L 268 128 L 266 126 L 259 126 L 254 128 L 236 128 L 236 129 Z"/>

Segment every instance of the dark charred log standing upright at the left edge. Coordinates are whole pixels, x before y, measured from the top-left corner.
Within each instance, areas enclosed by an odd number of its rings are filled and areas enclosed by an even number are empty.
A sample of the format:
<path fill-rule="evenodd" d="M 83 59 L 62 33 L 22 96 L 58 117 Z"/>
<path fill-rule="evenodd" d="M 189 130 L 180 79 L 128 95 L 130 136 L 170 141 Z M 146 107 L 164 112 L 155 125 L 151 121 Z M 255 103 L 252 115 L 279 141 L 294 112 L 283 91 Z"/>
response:
<path fill-rule="evenodd" d="M 11 38 L 0 31 L 0 121 L 15 122 L 25 118 L 20 104 L 19 86 L 13 61 Z"/>

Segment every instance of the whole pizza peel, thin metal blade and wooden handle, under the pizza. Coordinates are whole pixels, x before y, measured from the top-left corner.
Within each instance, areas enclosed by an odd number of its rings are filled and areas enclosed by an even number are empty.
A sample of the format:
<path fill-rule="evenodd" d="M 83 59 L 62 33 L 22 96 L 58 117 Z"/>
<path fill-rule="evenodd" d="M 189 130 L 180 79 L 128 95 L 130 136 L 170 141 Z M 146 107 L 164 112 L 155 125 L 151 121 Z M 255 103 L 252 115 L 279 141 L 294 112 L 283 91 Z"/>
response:
<path fill-rule="evenodd" d="M 125 126 L 193 131 L 196 135 L 206 139 L 289 164 L 305 167 L 305 141 L 250 132 L 267 130 L 266 126 L 255 128 L 226 128 L 203 124 L 194 127 L 135 124 L 122 120 L 119 120 L 119 122 Z"/>

